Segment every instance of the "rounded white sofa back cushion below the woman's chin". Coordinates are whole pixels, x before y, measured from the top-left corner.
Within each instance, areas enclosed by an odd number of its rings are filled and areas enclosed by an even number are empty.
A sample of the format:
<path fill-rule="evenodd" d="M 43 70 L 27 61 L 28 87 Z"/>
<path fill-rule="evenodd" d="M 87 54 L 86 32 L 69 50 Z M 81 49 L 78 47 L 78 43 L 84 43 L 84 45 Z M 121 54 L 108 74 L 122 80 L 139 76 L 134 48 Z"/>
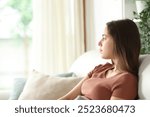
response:
<path fill-rule="evenodd" d="M 74 72 L 77 76 L 86 76 L 95 66 L 110 62 L 100 57 L 99 50 L 91 50 L 80 57 L 72 64 L 70 72 Z"/>

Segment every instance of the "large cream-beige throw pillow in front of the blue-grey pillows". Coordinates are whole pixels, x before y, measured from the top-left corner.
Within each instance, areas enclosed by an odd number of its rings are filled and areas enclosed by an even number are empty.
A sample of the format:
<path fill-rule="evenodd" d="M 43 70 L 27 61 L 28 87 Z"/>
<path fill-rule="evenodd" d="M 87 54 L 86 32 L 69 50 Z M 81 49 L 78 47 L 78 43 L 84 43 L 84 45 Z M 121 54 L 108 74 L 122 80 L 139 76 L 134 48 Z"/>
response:
<path fill-rule="evenodd" d="M 33 71 L 19 100 L 56 100 L 69 92 L 81 79 L 55 77 Z"/>

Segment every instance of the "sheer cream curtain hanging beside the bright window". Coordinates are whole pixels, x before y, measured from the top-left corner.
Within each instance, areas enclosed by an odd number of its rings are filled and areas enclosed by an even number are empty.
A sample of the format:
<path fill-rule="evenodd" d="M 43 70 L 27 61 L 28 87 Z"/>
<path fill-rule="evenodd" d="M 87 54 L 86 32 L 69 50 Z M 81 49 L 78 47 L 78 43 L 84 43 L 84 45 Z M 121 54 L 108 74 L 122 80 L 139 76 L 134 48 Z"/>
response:
<path fill-rule="evenodd" d="M 32 69 L 67 72 L 84 46 L 82 0 L 33 0 Z"/>

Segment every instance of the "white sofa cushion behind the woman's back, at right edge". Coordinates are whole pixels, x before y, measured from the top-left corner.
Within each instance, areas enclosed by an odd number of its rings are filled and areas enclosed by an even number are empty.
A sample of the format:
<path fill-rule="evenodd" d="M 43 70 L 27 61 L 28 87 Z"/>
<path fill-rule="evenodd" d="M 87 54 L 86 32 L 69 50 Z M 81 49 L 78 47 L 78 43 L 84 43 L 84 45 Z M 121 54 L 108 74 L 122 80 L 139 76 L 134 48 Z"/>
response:
<path fill-rule="evenodd" d="M 150 55 L 140 56 L 138 94 L 140 99 L 150 99 Z"/>

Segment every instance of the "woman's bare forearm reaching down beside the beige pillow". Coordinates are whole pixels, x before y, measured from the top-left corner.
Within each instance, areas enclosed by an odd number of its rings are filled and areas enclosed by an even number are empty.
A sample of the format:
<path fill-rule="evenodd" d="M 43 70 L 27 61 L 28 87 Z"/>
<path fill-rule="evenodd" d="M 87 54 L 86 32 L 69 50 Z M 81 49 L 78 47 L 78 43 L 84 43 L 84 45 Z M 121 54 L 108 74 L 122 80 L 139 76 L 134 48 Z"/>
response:
<path fill-rule="evenodd" d="M 88 76 L 86 76 L 85 78 L 83 78 L 71 91 L 69 91 L 66 95 L 64 95 L 63 97 L 59 98 L 59 100 L 73 100 L 75 99 L 78 95 L 81 94 L 81 86 L 82 83 L 89 79 Z"/>

